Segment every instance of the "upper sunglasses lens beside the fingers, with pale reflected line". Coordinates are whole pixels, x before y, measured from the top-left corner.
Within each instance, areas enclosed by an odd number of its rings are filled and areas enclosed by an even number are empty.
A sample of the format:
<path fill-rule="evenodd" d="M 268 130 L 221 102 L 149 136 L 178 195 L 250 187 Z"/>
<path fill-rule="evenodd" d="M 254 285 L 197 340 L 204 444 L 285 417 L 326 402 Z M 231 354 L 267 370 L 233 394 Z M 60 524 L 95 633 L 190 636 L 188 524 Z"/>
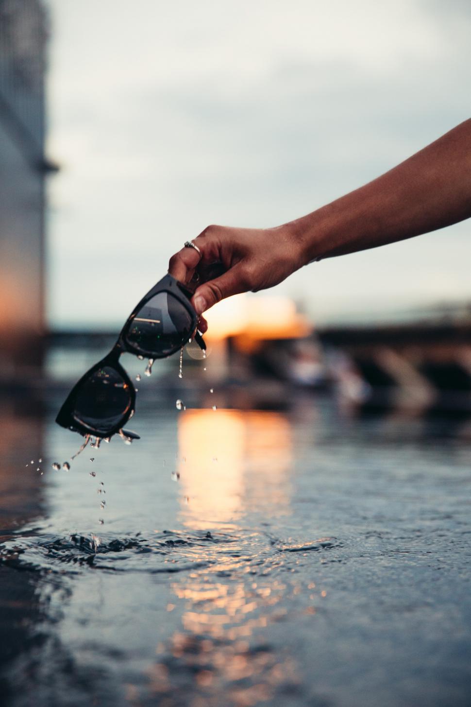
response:
<path fill-rule="evenodd" d="M 160 292 L 138 311 L 125 334 L 133 349 L 150 358 L 169 356 L 191 337 L 192 317 L 179 300 Z"/>

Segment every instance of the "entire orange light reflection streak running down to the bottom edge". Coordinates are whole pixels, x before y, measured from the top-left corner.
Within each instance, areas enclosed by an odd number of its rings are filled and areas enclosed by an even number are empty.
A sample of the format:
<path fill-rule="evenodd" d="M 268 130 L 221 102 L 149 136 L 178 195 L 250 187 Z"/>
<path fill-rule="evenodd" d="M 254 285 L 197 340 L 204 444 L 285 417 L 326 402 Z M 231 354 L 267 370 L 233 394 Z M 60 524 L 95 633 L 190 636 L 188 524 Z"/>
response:
<path fill-rule="evenodd" d="M 270 539 L 248 530 L 251 511 L 290 513 L 292 430 L 288 419 L 266 411 L 193 410 L 179 417 L 181 520 L 208 529 L 220 548 L 200 548 L 207 562 L 172 583 L 181 629 L 157 646 L 149 689 L 169 705 L 176 687 L 191 705 L 249 707 L 280 691 L 297 689 L 294 660 L 273 651 L 263 630 L 285 617 L 278 603 L 288 584 L 272 575 L 282 561 Z M 268 524 L 267 524 L 268 525 Z"/>

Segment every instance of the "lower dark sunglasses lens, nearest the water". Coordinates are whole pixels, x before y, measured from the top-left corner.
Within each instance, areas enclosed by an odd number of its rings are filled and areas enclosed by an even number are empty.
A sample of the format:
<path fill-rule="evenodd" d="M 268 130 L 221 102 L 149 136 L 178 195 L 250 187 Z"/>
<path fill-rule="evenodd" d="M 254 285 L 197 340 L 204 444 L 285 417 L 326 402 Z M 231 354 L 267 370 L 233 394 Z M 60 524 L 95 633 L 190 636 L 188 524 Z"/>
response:
<path fill-rule="evenodd" d="M 76 421 L 107 433 L 124 424 L 131 407 L 131 392 L 117 370 L 98 368 L 81 385 L 73 410 Z"/>

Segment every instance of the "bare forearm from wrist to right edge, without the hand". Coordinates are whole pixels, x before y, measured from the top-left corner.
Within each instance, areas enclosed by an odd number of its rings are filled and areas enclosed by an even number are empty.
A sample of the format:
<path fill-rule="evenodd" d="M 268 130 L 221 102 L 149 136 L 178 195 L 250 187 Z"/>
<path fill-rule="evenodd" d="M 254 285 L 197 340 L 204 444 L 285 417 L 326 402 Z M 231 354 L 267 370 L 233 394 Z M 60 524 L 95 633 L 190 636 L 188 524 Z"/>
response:
<path fill-rule="evenodd" d="M 471 119 L 388 173 L 286 224 L 303 264 L 386 245 L 471 216 Z"/>

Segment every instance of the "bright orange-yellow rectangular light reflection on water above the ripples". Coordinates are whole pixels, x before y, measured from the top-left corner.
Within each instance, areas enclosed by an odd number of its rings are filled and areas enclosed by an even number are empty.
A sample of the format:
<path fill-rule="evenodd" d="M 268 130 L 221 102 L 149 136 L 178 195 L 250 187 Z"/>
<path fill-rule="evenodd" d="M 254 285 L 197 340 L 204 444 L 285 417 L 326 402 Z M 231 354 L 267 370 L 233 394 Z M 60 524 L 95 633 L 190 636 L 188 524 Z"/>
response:
<path fill-rule="evenodd" d="M 292 437 L 282 414 L 187 410 L 178 439 L 185 525 L 235 527 L 254 501 L 270 513 L 289 512 Z"/>

